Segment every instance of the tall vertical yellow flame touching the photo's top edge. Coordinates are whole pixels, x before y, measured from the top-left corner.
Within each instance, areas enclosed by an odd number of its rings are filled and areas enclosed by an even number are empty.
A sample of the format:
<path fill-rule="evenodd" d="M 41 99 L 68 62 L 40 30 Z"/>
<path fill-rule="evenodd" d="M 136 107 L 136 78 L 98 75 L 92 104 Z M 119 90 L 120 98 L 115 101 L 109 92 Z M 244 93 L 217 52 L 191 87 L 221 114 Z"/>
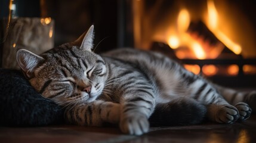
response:
<path fill-rule="evenodd" d="M 218 25 L 218 13 L 214 5 L 214 1 L 208 0 L 207 1 L 208 7 L 208 23 L 210 29 L 216 29 Z"/>

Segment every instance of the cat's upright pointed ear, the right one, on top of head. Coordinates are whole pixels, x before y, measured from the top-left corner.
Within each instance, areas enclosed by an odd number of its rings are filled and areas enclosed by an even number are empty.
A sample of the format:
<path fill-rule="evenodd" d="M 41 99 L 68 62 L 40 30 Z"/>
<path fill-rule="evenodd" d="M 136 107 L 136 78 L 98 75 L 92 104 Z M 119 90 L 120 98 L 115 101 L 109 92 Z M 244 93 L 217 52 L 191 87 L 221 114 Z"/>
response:
<path fill-rule="evenodd" d="M 84 32 L 73 45 L 79 46 L 79 49 L 85 49 L 91 51 L 93 48 L 93 39 L 94 39 L 94 26 L 92 25 L 87 32 Z"/>

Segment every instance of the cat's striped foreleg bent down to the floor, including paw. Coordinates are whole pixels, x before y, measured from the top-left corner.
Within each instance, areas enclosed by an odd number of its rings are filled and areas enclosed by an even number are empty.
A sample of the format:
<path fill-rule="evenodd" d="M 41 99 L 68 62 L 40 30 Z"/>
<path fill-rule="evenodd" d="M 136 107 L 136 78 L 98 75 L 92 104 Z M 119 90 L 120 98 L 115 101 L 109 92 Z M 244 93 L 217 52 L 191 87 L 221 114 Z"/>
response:
<path fill-rule="evenodd" d="M 149 117 L 155 107 L 152 88 L 123 91 L 121 120 L 119 126 L 124 133 L 142 135 L 149 131 Z"/>

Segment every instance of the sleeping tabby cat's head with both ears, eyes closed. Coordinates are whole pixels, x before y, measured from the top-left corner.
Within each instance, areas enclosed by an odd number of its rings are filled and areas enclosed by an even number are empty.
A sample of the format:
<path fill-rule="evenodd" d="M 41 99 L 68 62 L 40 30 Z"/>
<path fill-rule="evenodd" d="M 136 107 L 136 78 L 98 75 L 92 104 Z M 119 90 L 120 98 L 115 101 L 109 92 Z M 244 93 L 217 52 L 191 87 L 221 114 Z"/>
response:
<path fill-rule="evenodd" d="M 20 68 L 43 97 L 59 105 L 69 105 L 92 102 L 101 94 L 107 67 L 103 58 L 91 51 L 93 31 L 91 26 L 75 42 L 41 55 L 25 49 L 17 51 Z"/>

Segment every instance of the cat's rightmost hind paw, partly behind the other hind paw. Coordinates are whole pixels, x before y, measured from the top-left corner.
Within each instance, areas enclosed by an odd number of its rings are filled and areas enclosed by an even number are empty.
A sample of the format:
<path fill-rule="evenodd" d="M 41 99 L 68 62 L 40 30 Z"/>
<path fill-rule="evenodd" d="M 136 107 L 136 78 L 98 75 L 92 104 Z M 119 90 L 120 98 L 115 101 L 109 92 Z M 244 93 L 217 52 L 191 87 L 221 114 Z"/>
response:
<path fill-rule="evenodd" d="M 235 105 L 236 108 L 238 108 L 239 111 L 239 121 L 243 122 L 246 119 L 248 119 L 252 113 L 252 109 L 249 107 L 248 104 L 244 102 L 239 102 L 238 104 Z"/>

